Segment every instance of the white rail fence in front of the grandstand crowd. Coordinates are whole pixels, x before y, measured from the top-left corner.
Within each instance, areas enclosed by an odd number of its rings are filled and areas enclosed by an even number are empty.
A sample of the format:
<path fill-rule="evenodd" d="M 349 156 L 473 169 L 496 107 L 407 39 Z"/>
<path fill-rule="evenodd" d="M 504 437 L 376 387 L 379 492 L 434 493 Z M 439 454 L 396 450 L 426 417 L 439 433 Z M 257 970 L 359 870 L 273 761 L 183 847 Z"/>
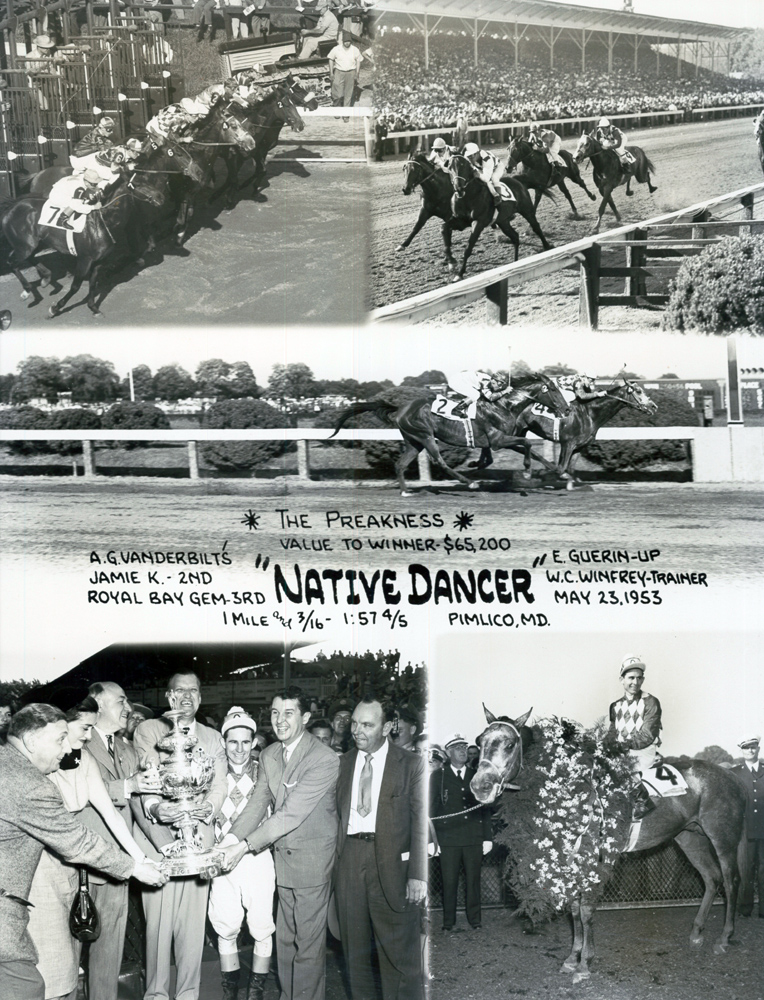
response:
<path fill-rule="evenodd" d="M 625 115 L 608 115 L 608 118 L 617 125 L 637 125 L 643 128 L 653 128 L 655 125 L 681 125 L 701 115 L 707 115 L 709 118 L 738 118 L 741 114 L 747 115 L 752 112 L 756 114 L 762 108 L 764 108 L 764 104 L 727 104 L 718 108 L 692 108 L 687 110 L 674 108 L 671 111 L 638 111 Z M 544 121 L 539 120 L 536 124 L 542 125 L 545 128 L 555 129 L 555 131 L 559 132 L 565 138 L 566 136 L 578 134 L 581 128 L 590 128 L 595 120 L 595 118 L 589 115 L 588 118 L 548 118 Z M 444 139 L 447 139 L 453 134 L 454 127 L 388 132 L 385 136 L 385 141 L 393 143 L 396 154 L 400 152 L 399 141 L 401 139 L 408 140 L 407 148 L 410 148 L 412 139 L 421 138 L 424 140 L 421 144 L 422 148 L 429 149 L 431 138 L 442 136 Z M 485 135 L 486 142 L 506 143 L 513 136 L 524 134 L 527 129 L 528 121 L 527 119 L 523 119 L 521 122 L 470 125 L 467 135 L 471 139 L 477 139 L 482 134 Z"/>

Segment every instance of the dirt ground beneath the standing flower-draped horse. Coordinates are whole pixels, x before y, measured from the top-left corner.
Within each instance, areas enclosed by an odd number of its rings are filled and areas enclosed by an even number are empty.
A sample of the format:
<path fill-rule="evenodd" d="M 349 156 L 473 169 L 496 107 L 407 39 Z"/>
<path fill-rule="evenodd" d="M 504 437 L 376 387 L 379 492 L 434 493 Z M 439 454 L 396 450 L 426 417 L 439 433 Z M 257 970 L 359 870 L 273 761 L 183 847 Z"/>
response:
<path fill-rule="evenodd" d="M 483 913 L 483 929 L 444 934 L 433 914 L 431 1000 L 762 1000 L 764 920 L 738 918 L 726 955 L 714 955 L 723 911 L 715 906 L 706 943 L 691 949 L 694 910 L 610 910 L 595 918 L 597 956 L 591 979 L 573 985 L 559 971 L 570 950 L 570 929 L 561 919 L 538 935 L 523 934 L 506 910 Z M 462 918 L 463 919 L 463 918 Z M 466 923 L 463 926 L 467 926 Z"/>

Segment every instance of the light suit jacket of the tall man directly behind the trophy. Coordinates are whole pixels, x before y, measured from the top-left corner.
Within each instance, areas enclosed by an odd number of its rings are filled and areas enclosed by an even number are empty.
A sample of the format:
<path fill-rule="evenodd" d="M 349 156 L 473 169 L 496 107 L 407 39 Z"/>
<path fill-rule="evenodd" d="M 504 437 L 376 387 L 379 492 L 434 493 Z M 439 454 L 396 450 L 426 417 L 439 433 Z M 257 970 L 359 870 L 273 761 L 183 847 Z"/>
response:
<path fill-rule="evenodd" d="M 142 722 L 133 733 L 133 747 L 138 752 L 141 766 L 146 764 L 159 764 L 162 757 L 167 756 L 157 750 L 157 743 L 172 729 L 169 719 L 162 716 L 159 719 L 147 719 Z M 228 794 L 228 761 L 226 760 L 223 737 L 210 726 L 204 726 L 197 719 L 196 737 L 199 740 L 197 746 L 215 759 L 215 774 L 210 785 L 210 790 L 204 798 L 205 802 L 212 803 L 212 817 L 209 823 L 200 823 L 199 832 L 202 835 L 202 843 L 205 847 L 212 847 L 215 843 L 215 833 L 212 820 L 220 812 Z M 130 808 L 136 826 L 133 828 L 133 836 L 137 843 L 154 860 L 163 857 L 160 848 L 165 844 L 175 840 L 172 826 L 165 823 L 156 823 L 147 816 L 144 805 L 146 800 L 156 799 L 156 796 L 133 795 L 130 799 Z"/>

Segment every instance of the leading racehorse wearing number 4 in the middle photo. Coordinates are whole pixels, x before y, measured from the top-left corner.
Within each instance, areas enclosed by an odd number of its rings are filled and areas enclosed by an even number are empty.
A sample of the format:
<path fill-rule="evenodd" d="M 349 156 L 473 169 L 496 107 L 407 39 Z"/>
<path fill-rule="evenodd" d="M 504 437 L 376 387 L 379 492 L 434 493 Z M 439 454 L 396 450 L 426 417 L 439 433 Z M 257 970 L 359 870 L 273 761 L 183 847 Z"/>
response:
<path fill-rule="evenodd" d="M 524 437 L 529 431 L 546 441 L 560 442 L 560 456 L 557 465 L 553 466 L 540 455 L 536 457 L 548 468 L 554 469 L 557 475 L 570 479 L 568 468 L 576 452 L 581 451 L 597 436 L 597 431 L 616 413 L 630 406 L 642 413 L 655 413 L 658 404 L 650 399 L 645 390 L 637 382 L 621 380 L 607 390 L 606 396 L 598 399 L 575 399 L 570 405 L 567 416 L 560 418 L 559 428 L 555 433 L 555 417 L 551 413 L 539 413 L 536 407 L 528 407 L 517 420 L 515 433 Z M 525 468 L 530 470 L 530 447 L 515 450 L 525 451 Z M 483 456 L 481 455 L 481 461 Z M 490 463 L 487 463 L 490 464 Z M 485 468 L 480 462 L 478 468 Z"/>

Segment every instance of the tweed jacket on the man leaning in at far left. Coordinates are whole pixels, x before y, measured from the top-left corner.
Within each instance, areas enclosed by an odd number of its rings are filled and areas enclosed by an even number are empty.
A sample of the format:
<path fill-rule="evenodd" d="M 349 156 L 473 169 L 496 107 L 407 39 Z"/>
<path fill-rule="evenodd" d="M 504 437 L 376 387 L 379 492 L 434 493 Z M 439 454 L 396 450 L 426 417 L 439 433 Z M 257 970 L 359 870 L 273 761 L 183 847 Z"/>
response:
<path fill-rule="evenodd" d="M 43 847 L 64 861 L 129 878 L 135 867 L 67 811 L 61 793 L 13 746 L 0 746 L 0 888 L 29 899 Z M 37 961 L 26 906 L 0 896 L 0 962 Z"/>

